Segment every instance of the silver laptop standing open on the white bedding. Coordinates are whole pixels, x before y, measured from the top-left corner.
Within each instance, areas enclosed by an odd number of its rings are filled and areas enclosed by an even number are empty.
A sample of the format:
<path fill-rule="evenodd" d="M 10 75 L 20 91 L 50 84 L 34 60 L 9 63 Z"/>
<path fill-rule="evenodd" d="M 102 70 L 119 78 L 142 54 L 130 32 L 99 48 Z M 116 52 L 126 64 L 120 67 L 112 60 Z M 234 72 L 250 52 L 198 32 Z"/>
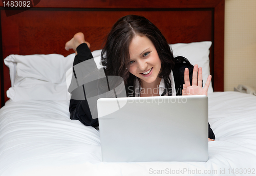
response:
<path fill-rule="evenodd" d="M 102 161 L 208 160 L 208 97 L 97 101 Z"/>

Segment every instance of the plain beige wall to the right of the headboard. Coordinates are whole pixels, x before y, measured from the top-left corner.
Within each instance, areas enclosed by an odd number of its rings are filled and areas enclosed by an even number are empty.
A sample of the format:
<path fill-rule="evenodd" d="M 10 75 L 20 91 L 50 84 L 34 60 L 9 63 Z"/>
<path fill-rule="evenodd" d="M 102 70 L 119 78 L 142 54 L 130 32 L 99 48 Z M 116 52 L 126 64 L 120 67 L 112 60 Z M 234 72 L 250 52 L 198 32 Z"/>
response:
<path fill-rule="evenodd" d="M 256 0 L 225 1 L 224 91 L 256 88 Z"/>

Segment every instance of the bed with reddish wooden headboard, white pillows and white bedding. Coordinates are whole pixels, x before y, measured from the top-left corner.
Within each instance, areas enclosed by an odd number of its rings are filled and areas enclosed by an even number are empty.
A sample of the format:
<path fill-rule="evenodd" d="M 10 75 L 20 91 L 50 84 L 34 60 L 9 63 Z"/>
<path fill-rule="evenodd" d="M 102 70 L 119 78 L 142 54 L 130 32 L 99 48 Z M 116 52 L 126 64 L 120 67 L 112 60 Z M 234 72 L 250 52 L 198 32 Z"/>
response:
<path fill-rule="evenodd" d="M 223 91 L 224 0 L 33 1 L 1 5 L 0 175 L 253 175 L 255 96 Z M 8 11 L 8 13 L 6 13 Z M 15 14 L 15 15 L 14 15 Z M 100 49 L 126 14 L 150 19 L 183 55 L 211 74 L 209 123 L 216 135 L 207 162 L 101 162 L 99 131 L 70 120 L 74 54 L 65 42 L 83 32 L 100 67 Z M 5 60 L 4 60 L 5 59 Z"/>

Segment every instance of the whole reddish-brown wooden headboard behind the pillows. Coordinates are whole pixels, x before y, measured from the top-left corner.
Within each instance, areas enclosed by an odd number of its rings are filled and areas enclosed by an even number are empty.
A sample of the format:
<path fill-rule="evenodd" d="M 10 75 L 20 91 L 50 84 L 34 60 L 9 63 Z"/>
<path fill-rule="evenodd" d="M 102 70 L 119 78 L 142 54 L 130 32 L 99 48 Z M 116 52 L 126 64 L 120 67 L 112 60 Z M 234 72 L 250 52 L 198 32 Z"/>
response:
<path fill-rule="evenodd" d="M 1 107 L 11 86 L 3 59 L 10 54 L 67 56 L 66 41 L 83 32 L 91 50 L 101 49 L 116 20 L 127 14 L 143 15 L 164 34 L 169 43 L 212 41 L 210 71 L 214 91 L 223 91 L 225 0 L 33 0 L 33 8 L 4 8 L 0 2 Z M 8 13 L 7 13 L 8 12 Z"/>

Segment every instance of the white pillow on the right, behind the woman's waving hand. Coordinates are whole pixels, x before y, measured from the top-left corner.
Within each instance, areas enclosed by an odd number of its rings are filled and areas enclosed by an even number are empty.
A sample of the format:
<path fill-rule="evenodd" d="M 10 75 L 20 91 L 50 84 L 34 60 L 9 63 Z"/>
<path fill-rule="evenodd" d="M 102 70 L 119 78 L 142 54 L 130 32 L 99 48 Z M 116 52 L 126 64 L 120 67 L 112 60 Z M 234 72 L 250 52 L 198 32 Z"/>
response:
<path fill-rule="evenodd" d="M 198 64 L 203 69 L 203 83 L 205 85 L 208 76 L 210 75 L 210 60 L 209 60 L 209 49 L 211 41 L 201 41 L 193 43 L 176 43 L 169 45 L 172 50 L 174 57 L 183 56 L 189 60 L 193 65 Z M 210 82 L 208 93 L 212 93 L 212 85 Z"/>

